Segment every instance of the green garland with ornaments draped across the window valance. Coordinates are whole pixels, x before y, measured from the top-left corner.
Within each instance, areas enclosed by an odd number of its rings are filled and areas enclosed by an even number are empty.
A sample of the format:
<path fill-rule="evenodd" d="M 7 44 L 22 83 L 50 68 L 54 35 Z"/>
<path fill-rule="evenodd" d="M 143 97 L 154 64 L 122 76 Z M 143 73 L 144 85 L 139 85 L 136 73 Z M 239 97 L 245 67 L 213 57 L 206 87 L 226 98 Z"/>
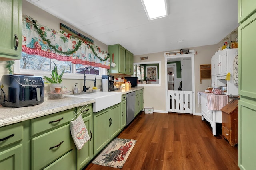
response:
<path fill-rule="evenodd" d="M 34 20 L 33 18 L 31 18 L 30 16 L 27 16 L 27 17 L 32 21 L 32 23 L 33 23 L 33 25 L 34 25 L 34 28 L 36 29 L 38 35 L 39 35 L 39 36 L 42 38 L 42 40 L 45 41 L 45 42 L 49 45 L 49 47 L 51 47 L 54 51 L 56 51 L 56 52 L 58 52 L 58 53 L 60 53 L 60 54 L 64 54 L 64 55 L 69 56 L 69 55 L 73 54 L 74 52 L 76 52 L 76 51 L 81 47 L 82 41 L 78 40 L 78 43 L 76 44 L 75 48 L 72 49 L 71 51 L 63 52 L 63 51 L 58 50 L 55 45 L 51 45 L 49 39 L 46 39 L 46 38 L 45 38 L 45 36 L 44 36 L 44 31 L 42 31 L 41 29 L 38 28 L 37 23 L 36 23 L 36 20 Z M 62 32 L 60 31 L 60 33 L 62 33 Z M 62 34 L 63 34 L 63 33 L 62 33 Z M 86 44 L 87 44 L 87 43 L 86 43 Z M 92 53 L 94 54 L 94 56 L 96 56 L 98 59 L 100 59 L 100 61 L 107 61 L 107 60 L 109 59 L 109 53 L 107 54 L 107 57 L 106 57 L 106 58 L 102 59 L 101 57 L 98 57 L 98 55 L 97 55 L 97 53 L 95 52 L 95 50 L 94 50 L 94 48 L 92 47 L 92 45 L 90 45 L 90 44 L 87 44 L 87 45 L 88 45 L 88 46 L 90 47 L 90 49 L 92 50 Z M 96 46 L 96 48 L 97 48 L 97 46 Z M 100 50 L 100 47 L 99 47 L 98 49 Z"/>

